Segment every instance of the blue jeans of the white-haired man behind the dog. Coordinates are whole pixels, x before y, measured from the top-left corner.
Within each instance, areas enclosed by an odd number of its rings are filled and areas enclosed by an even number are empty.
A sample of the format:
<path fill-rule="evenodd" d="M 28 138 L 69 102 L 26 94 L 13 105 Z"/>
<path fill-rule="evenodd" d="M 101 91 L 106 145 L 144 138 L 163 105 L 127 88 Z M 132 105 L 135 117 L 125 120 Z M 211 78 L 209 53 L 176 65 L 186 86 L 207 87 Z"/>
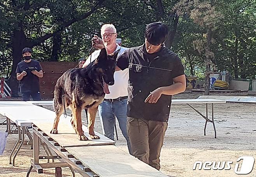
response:
<path fill-rule="evenodd" d="M 103 101 L 102 104 L 99 105 L 98 111 L 103 135 L 112 140 L 114 140 L 114 120 L 116 116 L 122 134 L 126 139 L 129 153 L 131 154 L 132 149 L 126 127 L 127 99 L 114 102 Z"/>

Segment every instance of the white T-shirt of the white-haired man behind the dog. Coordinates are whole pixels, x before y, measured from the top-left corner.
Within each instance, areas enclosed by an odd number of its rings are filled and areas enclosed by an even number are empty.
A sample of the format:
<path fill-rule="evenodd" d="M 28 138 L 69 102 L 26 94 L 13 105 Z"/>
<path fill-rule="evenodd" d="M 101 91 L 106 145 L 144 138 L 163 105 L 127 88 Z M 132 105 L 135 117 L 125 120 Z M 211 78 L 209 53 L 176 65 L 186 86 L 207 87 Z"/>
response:
<path fill-rule="evenodd" d="M 121 47 L 120 45 L 117 45 L 116 51 L 119 50 L 119 53 L 117 57 L 119 57 L 125 50 L 128 48 L 126 47 Z M 94 51 L 91 56 L 86 59 L 85 64 L 89 65 L 90 60 L 93 62 L 100 54 L 100 50 Z M 90 59 L 91 57 L 91 59 Z M 109 92 L 110 94 L 105 94 L 105 99 L 116 99 L 118 97 L 124 97 L 128 95 L 127 87 L 128 87 L 128 80 L 129 80 L 129 69 L 126 68 L 123 71 L 116 71 L 114 73 L 114 80 L 115 83 L 114 85 L 109 85 Z"/>

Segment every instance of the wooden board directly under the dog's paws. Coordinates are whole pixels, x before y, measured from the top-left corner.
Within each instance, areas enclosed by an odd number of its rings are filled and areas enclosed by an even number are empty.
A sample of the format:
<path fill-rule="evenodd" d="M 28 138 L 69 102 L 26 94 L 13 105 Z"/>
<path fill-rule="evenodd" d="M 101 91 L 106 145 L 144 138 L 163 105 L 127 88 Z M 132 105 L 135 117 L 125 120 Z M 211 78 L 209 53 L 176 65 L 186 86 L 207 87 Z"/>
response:
<path fill-rule="evenodd" d="M 95 146 L 95 145 L 104 145 L 104 144 L 115 144 L 111 139 L 95 132 L 96 135 L 100 137 L 100 139 L 91 139 L 89 137 L 88 128 L 82 125 L 82 129 L 84 130 L 84 135 L 88 137 L 88 141 L 79 141 L 78 135 L 75 133 L 70 121 L 68 119 L 60 119 L 58 125 L 58 134 L 50 134 L 50 131 L 53 127 L 53 121 L 42 121 L 42 120 L 32 120 L 33 124 L 35 124 L 40 130 L 42 130 L 49 137 L 54 139 L 61 147 L 74 147 L 74 146 Z"/>

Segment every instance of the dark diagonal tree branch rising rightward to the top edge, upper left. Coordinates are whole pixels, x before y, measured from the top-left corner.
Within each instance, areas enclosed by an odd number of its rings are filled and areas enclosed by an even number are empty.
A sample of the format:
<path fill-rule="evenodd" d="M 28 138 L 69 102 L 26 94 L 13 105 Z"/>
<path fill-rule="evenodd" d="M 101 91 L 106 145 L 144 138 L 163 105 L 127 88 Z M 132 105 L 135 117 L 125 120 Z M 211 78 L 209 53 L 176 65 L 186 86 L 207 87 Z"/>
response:
<path fill-rule="evenodd" d="M 62 31 L 63 29 L 67 28 L 68 26 L 72 25 L 73 23 L 77 22 L 77 21 L 81 21 L 83 19 L 86 19 L 88 16 L 90 16 L 91 14 L 93 14 L 99 7 L 100 5 L 102 5 L 102 3 L 104 2 L 105 0 L 100 0 L 95 6 L 93 6 L 91 8 L 91 10 L 89 12 L 87 12 L 86 14 L 83 14 L 82 16 L 80 17 L 77 17 L 77 18 L 74 18 L 70 21 L 67 21 L 66 23 L 62 24 L 58 30 L 54 31 L 53 33 L 47 33 L 46 35 L 32 41 L 30 47 L 34 47 L 35 45 L 38 45 L 39 43 L 42 43 L 44 42 L 45 40 L 51 38 L 52 36 L 56 35 L 56 33 Z"/>

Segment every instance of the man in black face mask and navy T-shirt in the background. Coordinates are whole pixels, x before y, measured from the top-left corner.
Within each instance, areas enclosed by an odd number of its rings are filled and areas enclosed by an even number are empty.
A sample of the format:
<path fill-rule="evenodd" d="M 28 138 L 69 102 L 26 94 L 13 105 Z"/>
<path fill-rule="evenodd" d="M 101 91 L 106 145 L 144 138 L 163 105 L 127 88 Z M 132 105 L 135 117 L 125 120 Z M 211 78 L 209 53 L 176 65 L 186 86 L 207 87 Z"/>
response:
<path fill-rule="evenodd" d="M 43 77 L 40 63 L 31 58 L 32 49 L 25 47 L 22 50 L 23 61 L 18 63 L 16 69 L 17 80 L 21 83 L 23 101 L 29 101 L 30 96 L 34 101 L 40 101 L 39 78 Z"/>

